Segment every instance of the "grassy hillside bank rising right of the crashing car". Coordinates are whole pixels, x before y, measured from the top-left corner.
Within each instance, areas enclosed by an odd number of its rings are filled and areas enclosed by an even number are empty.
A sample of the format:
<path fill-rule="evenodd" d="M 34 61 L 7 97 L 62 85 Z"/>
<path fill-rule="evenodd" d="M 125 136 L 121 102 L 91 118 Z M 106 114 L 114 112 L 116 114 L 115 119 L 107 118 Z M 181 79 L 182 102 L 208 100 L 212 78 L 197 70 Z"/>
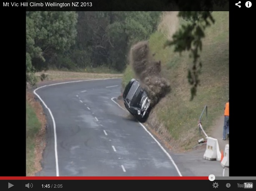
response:
<path fill-rule="evenodd" d="M 172 48 L 163 50 L 163 44 L 170 38 L 176 28 L 184 20 L 178 20 L 174 14 L 163 16 L 158 32 L 149 39 L 150 48 L 156 53 L 155 58 L 161 60 L 162 75 L 171 82 L 172 91 L 153 109 L 149 123 L 171 141 L 173 149 L 191 149 L 197 144 L 199 136 L 197 120 L 208 106 L 207 120 L 202 120 L 206 133 L 211 131 L 213 122 L 223 115 L 223 107 L 229 97 L 229 16 L 228 12 L 213 12 L 216 23 L 206 31 L 203 41 L 201 60 L 203 62 L 200 75 L 201 86 L 197 96 L 190 99 L 190 86 L 187 69 L 192 66 L 188 54 L 180 56 Z M 168 23 L 168 24 L 167 24 Z M 164 27 L 167 26 L 167 27 Z M 123 75 L 123 86 L 134 77 L 128 66 Z"/>

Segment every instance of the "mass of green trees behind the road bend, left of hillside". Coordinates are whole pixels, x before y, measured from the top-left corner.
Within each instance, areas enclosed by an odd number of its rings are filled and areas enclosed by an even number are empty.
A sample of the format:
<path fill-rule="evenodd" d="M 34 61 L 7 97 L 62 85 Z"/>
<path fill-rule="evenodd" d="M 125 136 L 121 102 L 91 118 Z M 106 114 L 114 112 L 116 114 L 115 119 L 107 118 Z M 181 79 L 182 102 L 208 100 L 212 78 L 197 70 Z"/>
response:
<path fill-rule="evenodd" d="M 157 28 L 160 14 L 154 11 L 26 12 L 27 73 L 88 67 L 108 67 L 122 72 L 130 46 L 149 38 Z"/>

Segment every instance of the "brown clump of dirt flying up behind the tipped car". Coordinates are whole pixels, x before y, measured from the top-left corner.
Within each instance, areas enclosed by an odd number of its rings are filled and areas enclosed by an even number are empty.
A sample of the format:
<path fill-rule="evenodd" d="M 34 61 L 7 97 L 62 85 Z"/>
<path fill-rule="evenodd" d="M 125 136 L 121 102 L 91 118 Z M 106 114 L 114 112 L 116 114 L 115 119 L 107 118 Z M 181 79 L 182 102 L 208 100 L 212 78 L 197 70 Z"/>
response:
<path fill-rule="evenodd" d="M 145 89 L 154 107 L 171 91 L 170 83 L 161 77 L 161 61 L 155 61 L 149 50 L 148 41 L 138 42 L 130 50 L 129 63 L 141 87 Z"/>

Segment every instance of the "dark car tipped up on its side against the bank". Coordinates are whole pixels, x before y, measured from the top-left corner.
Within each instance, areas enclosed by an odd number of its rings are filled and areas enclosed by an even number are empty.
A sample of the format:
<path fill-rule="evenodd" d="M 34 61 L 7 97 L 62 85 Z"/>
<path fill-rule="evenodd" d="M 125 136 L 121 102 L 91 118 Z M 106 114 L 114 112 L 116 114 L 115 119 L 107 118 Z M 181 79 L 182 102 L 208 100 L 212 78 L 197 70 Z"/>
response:
<path fill-rule="evenodd" d="M 148 118 L 150 107 L 150 99 L 144 89 L 142 89 L 140 82 L 136 79 L 131 79 L 126 85 L 123 92 L 123 101 L 125 108 L 138 121 L 145 122 Z"/>

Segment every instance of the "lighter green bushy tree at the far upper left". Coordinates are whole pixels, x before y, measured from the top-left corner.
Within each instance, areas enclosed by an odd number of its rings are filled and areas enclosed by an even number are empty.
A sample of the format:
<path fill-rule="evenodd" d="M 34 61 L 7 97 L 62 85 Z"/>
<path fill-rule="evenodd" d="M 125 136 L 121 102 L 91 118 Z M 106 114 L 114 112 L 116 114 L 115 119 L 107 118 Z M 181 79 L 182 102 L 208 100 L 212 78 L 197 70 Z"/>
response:
<path fill-rule="evenodd" d="M 26 12 L 27 74 L 48 69 L 56 53 L 75 43 L 76 23 L 75 12 Z"/>

